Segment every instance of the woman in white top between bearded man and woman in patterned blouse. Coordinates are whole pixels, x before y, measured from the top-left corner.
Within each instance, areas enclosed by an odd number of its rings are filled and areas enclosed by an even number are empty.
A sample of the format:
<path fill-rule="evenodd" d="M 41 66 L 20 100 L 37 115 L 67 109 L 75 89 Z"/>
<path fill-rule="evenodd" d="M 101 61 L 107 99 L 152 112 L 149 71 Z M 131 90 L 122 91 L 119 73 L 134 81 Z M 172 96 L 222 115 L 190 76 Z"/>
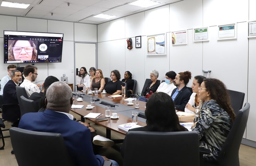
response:
<path fill-rule="evenodd" d="M 195 76 L 193 83 L 192 83 L 192 90 L 193 93 L 190 96 L 190 99 L 185 107 L 185 112 L 188 113 L 197 113 L 200 110 L 200 107 L 203 104 L 203 100 L 200 100 L 199 98 L 199 90 L 198 88 L 201 86 L 201 83 L 203 82 L 203 79 L 205 79 L 205 76 Z"/>

